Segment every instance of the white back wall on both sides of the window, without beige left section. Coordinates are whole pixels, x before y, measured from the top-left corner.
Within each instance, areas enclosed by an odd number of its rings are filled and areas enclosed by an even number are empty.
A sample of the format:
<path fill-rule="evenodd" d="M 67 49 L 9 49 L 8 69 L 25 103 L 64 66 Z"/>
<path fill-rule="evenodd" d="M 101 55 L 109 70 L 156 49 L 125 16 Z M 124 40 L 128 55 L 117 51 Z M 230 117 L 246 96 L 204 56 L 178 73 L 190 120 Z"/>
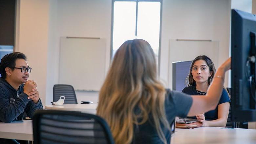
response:
<path fill-rule="evenodd" d="M 47 97 L 49 97 L 49 99 L 52 98 L 53 84 L 58 82 L 59 37 L 106 38 L 107 49 L 109 49 L 106 53 L 106 68 L 108 68 L 110 61 L 111 42 L 111 0 L 75 0 L 72 2 L 70 2 L 70 0 L 58 0 L 57 2 L 54 1 L 53 5 L 55 6 L 53 7 L 53 15 L 56 15 L 56 18 L 53 19 L 53 21 L 56 21 L 53 27 L 58 27 L 53 28 L 57 34 L 54 35 L 53 39 L 51 38 L 51 40 L 55 41 L 53 49 L 49 49 L 49 55 L 55 55 L 54 58 L 49 57 L 49 59 L 52 58 L 52 60 L 49 61 L 51 65 L 48 65 L 48 67 L 52 67 L 52 72 L 48 72 L 48 74 L 52 76 L 48 78 L 53 78 L 53 80 L 51 80 L 52 82 L 48 81 L 49 84 L 47 84 Z M 219 65 L 228 58 L 230 5 L 230 0 L 163 0 L 160 78 L 165 81 L 166 85 L 168 80 L 169 39 L 217 40 L 219 41 L 220 49 Z M 51 26 L 52 25 L 50 25 L 50 27 Z M 49 35 L 49 37 L 52 37 L 52 35 Z M 54 73 L 54 75 L 52 73 Z M 228 78 L 226 78 L 226 81 L 227 79 Z M 227 82 L 225 85 L 227 85 Z M 98 93 L 76 92 L 76 94 L 78 101 L 97 101 Z"/>

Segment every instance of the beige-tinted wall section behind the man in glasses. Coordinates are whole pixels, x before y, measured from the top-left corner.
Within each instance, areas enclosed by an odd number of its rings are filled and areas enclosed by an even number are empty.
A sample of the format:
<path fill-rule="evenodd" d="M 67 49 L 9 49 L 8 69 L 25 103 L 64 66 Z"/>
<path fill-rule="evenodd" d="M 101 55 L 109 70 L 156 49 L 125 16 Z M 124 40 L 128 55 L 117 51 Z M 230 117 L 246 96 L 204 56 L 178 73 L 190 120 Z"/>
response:
<path fill-rule="evenodd" d="M 29 79 L 37 83 L 40 98 L 45 103 L 49 3 L 48 0 L 18 0 L 17 7 L 15 51 L 27 55 L 32 67 Z"/>

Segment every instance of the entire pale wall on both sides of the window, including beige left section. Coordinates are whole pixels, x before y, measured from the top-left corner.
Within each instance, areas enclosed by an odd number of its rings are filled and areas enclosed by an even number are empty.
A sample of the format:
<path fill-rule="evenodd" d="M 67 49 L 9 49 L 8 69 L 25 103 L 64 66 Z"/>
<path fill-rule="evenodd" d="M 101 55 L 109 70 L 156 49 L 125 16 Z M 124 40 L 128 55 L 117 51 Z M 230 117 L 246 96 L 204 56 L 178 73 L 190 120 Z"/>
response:
<path fill-rule="evenodd" d="M 105 64 L 109 67 L 112 0 L 22 0 L 20 3 L 16 51 L 27 54 L 33 68 L 31 78 L 39 85 L 44 105 L 52 101 L 53 85 L 58 83 L 60 37 L 105 38 L 108 49 Z M 169 39 L 217 40 L 219 64 L 224 62 L 229 53 L 230 7 L 230 0 L 163 0 L 160 51 L 163 81 L 168 80 Z M 78 102 L 98 99 L 95 92 L 76 94 Z"/>

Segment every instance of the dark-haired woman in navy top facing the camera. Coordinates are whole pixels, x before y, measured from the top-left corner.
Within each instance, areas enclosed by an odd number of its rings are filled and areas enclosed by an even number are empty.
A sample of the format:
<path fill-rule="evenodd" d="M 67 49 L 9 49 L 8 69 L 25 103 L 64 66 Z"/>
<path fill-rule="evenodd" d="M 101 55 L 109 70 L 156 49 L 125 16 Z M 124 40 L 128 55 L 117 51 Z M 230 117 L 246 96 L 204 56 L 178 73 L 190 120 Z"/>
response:
<path fill-rule="evenodd" d="M 215 66 L 210 58 L 205 55 L 196 57 L 190 66 L 185 87 L 182 92 L 189 95 L 205 95 L 214 77 Z M 225 127 L 229 112 L 229 95 L 225 89 L 222 91 L 221 99 L 214 110 L 206 113 L 197 114 L 198 121 L 203 126 Z"/>

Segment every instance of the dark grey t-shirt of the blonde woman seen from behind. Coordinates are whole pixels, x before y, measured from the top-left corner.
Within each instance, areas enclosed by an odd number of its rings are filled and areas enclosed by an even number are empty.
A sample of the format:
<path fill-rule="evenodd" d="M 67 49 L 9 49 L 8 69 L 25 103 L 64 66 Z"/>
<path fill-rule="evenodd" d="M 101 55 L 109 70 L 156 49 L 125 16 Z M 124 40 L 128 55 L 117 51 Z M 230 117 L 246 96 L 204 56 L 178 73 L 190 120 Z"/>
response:
<path fill-rule="evenodd" d="M 166 90 L 165 113 L 168 122 L 171 124 L 175 117 L 186 117 L 192 105 L 192 97 L 178 91 Z M 160 137 L 154 126 L 153 117 L 149 114 L 149 119 L 142 125 L 134 125 L 133 144 L 161 144 Z M 170 143 L 171 132 L 161 125 L 167 143 Z"/>

